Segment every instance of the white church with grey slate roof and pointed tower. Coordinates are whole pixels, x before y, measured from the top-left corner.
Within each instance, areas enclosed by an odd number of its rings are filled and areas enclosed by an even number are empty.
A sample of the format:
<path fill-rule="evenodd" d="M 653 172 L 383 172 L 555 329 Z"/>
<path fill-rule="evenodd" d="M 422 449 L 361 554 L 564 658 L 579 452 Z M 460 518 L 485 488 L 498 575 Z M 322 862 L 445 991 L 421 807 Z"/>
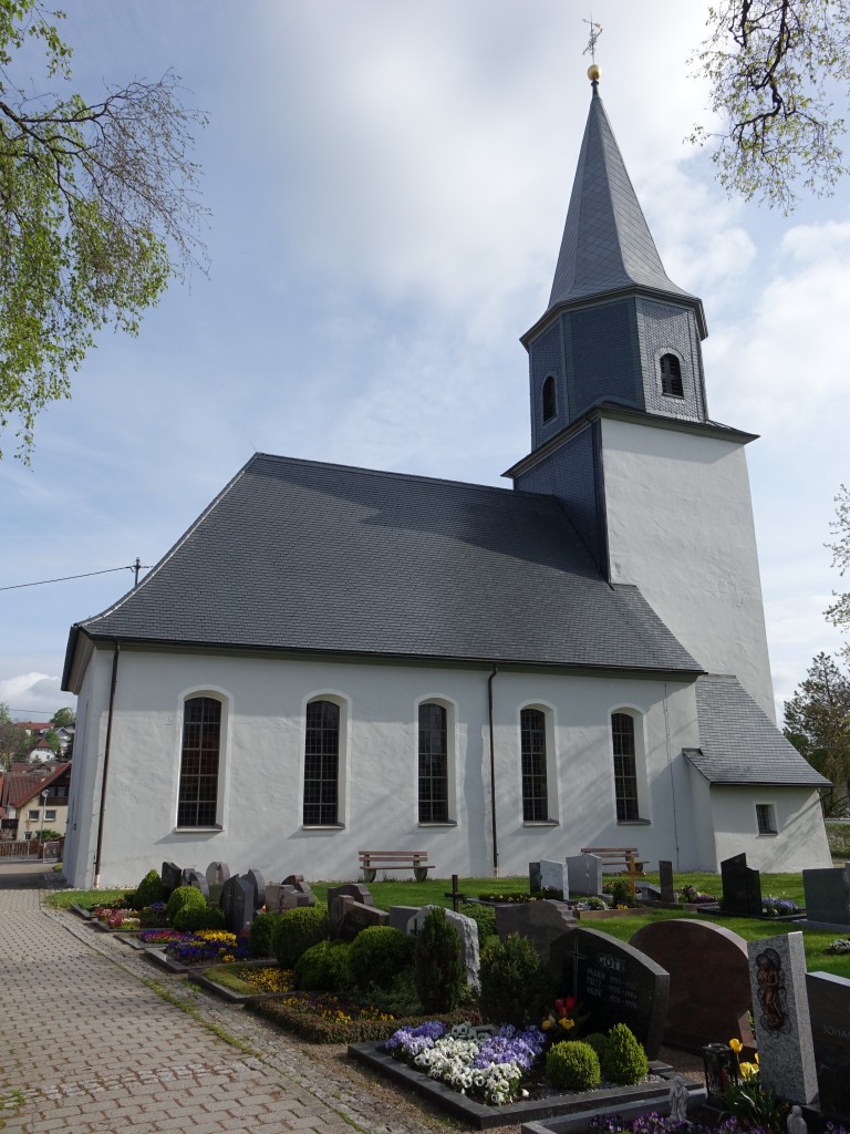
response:
<path fill-rule="evenodd" d="M 256 454 L 70 631 L 65 872 L 164 860 L 351 879 L 831 864 L 827 781 L 774 722 L 745 449 L 702 302 L 662 265 L 593 96 L 512 488 Z"/>

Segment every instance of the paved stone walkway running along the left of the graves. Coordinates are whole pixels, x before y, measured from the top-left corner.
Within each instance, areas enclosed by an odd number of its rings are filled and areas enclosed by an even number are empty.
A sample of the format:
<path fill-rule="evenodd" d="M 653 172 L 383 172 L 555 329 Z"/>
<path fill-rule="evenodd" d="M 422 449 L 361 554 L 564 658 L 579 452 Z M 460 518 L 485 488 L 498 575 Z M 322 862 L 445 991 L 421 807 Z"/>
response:
<path fill-rule="evenodd" d="M 425 1131 L 341 1061 L 318 1063 L 264 1021 L 161 975 L 114 937 L 43 908 L 41 892 L 0 889 L 3 1132 Z"/>

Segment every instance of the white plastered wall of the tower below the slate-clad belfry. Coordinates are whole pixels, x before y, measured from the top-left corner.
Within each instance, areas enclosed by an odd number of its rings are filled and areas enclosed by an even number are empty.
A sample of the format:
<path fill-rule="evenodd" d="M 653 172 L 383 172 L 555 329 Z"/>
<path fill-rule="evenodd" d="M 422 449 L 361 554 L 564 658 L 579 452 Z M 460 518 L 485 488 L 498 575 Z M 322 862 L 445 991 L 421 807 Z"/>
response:
<path fill-rule="evenodd" d="M 775 720 L 743 447 L 607 418 L 602 439 L 612 582 Z"/>

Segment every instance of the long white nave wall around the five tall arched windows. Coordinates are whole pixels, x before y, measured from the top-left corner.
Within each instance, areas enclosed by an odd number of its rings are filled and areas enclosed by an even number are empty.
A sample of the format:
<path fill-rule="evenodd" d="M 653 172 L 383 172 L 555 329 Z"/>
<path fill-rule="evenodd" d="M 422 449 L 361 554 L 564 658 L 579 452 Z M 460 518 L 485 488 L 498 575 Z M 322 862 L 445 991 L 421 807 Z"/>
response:
<path fill-rule="evenodd" d="M 75 754 L 66 873 L 92 885 L 111 652 L 96 652 L 80 689 L 86 721 Z M 350 879 L 359 849 L 424 849 L 435 877 L 493 870 L 490 807 L 488 669 L 371 666 L 269 658 L 155 654 L 122 649 L 107 787 L 101 885 L 136 885 L 173 860 L 205 869 L 260 868 Z M 227 701 L 221 830 L 176 830 L 181 704 L 199 691 Z M 304 706 L 332 695 L 347 706 L 343 829 L 301 827 Z M 635 845 L 651 862 L 692 869 L 698 857 L 682 746 L 697 743 L 691 685 L 623 676 L 500 671 L 493 682 L 499 869 L 527 871 L 581 846 Z M 451 824 L 419 824 L 417 704 L 442 700 L 453 718 L 456 795 Z M 555 826 L 522 822 L 519 710 L 551 713 Z M 618 823 L 610 714 L 639 714 L 644 748 L 640 812 Z M 78 760 L 78 756 L 80 758 Z"/>

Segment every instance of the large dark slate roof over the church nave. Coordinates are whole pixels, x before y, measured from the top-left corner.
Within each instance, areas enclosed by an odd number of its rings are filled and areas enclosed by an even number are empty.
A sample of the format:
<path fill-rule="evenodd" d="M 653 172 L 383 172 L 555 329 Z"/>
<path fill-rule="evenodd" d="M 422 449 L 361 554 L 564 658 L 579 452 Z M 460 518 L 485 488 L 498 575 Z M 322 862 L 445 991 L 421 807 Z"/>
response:
<path fill-rule="evenodd" d="M 549 496 L 255 455 L 77 636 L 696 674 Z M 67 686 L 66 686 L 67 687 Z"/>

